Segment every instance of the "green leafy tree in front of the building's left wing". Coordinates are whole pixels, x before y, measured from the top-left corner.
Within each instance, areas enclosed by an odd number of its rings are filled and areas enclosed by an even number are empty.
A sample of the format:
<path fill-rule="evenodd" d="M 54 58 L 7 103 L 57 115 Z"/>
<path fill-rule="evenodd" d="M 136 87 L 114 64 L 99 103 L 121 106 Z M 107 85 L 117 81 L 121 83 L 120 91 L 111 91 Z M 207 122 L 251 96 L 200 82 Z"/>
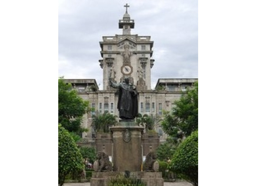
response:
<path fill-rule="evenodd" d="M 59 123 L 69 132 L 81 135 L 85 128 L 81 127 L 83 114 L 91 111 L 89 101 L 78 96 L 71 84 L 59 79 Z"/>

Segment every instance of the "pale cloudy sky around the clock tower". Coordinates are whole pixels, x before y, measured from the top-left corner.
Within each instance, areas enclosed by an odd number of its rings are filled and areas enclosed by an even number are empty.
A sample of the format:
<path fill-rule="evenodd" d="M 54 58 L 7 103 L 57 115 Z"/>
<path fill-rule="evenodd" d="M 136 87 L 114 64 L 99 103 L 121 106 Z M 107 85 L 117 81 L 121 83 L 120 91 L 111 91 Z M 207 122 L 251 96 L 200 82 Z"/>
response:
<path fill-rule="evenodd" d="M 197 0 L 59 0 L 59 76 L 96 79 L 102 89 L 99 41 L 122 34 L 126 3 L 131 34 L 154 41 L 151 89 L 158 78 L 198 77 Z"/>

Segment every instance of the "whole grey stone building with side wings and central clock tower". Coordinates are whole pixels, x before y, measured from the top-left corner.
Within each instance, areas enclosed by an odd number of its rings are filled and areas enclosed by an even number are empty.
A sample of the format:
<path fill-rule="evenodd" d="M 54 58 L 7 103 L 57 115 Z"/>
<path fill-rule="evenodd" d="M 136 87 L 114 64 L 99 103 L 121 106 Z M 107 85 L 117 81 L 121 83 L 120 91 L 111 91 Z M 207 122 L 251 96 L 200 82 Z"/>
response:
<path fill-rule="evenodd" d="M 82 134 L 86 145 L 93 146 L 97 151 L 105 151 L 112 154 L 111 134 L 96 134 L 91 127 L 92 115 L 108 112 L 118 116 L 116 89 L 109 86 L 109 77 L 114 82 L 122 82 L 129 77 L 130 82 L 137 87 L 138 112 L 151 115 L 155 118 L 154 129 L 156 133 L 144 133 L 142 137 L 143 155 L 158 147 L 164 142 L 166 134 L 160 126 L 159 118 L 163 111 L 171 111 L 174 101 L 180 99 L 187 87 L 193 86 L 197 78 L 165 78 L 158 79 L 157 85 L 151 88 L 151 68 L 155 60 L 152 59 L 152 48 L 154 42 L 150 36 L 139 36 L 131 34 L 134 28 L 134 20 L 130 18 L 127 7 L 124 16 L 119 20 L 121 35 L 103 36 L 99 42 L 101 48 L 101 59 L 99 66 L 103 73 L 103 90 L 99 90 L 95 79 L 65 79 L 72 84 L 78 94 L 90 102 L 94 112 L 84 115 L 83 127 L 88 132 Z M 100 69 L 99 69 L 100 70 Z M 80 145 L 85 145 L 80 144 Z"/>

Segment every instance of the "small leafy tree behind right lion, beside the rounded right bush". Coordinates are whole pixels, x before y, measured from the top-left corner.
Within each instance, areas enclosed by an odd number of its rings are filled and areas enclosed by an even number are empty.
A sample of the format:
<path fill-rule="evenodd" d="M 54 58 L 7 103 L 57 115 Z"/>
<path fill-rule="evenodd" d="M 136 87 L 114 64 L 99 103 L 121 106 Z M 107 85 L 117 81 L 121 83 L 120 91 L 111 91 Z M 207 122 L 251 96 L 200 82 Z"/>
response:
<path fill-rule="evenodd" d="M 167 138 L 166 142 L 158 146 L 156 150 L 157 158 L 160 161 L 167 161 L 168 158 L 171 159 L 177 147 L 178 142 L 175 139 Z"/>

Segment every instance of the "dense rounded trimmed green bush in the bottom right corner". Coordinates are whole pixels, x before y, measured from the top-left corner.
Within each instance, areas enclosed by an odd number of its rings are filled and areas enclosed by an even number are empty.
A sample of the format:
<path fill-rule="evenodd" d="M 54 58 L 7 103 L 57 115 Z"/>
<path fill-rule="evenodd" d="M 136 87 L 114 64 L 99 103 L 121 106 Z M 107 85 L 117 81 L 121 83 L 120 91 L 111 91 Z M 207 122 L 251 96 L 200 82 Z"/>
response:
<path fill-rule="evenodd" d="M 170 170 L 198 186 L 198 131 L 184 140 L 173 155 Z"/>

